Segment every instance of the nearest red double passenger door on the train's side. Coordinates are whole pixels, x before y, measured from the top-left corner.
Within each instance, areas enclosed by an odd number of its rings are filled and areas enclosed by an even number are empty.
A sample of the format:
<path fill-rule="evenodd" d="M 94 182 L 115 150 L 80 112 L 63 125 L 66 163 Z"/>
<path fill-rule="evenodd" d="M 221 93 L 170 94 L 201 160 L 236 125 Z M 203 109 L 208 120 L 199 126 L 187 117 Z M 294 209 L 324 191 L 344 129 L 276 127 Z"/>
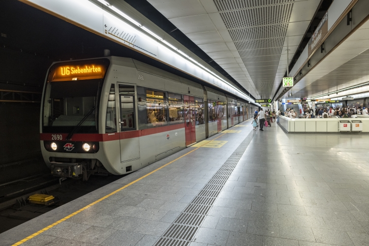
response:
<path fill-rule="evenodd" d="M 186 146 L 196 142 L 195 114 L 195 98 L 184 95 L 184 132 Z"/>

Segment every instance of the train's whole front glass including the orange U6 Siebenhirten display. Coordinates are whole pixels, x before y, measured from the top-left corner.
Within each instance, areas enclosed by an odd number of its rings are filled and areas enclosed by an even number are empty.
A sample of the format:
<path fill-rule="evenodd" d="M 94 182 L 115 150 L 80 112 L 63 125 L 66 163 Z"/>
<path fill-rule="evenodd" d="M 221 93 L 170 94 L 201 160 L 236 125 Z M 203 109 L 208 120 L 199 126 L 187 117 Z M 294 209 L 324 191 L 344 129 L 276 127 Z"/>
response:
<path fill-rule="evenodd" d="M 61 62 L 50 68 L 44 92 L 43 132 L 98 132 L 98 104 L 109 64 L 108 59 L 96 59 Z"/>

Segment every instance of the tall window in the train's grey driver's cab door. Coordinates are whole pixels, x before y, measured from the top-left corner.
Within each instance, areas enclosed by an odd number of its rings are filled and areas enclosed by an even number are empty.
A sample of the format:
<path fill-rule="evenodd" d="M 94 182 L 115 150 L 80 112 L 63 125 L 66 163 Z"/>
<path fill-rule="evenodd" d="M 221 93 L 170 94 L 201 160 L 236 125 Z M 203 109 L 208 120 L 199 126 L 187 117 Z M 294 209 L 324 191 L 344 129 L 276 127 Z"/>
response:
<path fill-rule="evenodd" d="M 121 105 L 121 131 L 135 130 L 134 86 L 119 85 L 119 100 Z"/>

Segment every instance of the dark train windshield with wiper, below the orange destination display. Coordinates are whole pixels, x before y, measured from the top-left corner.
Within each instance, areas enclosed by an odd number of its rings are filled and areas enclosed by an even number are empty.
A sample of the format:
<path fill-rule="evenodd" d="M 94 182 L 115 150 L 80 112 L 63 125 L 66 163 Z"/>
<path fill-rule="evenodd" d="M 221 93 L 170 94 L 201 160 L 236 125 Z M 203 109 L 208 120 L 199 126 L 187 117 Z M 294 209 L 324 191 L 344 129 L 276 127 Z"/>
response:
<path fill-rule="evenodd" d="M 79 132 L 96 132 L 101 83 L 99 79 L 48 83 L 44 100 L 44 132 L 70 132 L 87 115 Z"/>

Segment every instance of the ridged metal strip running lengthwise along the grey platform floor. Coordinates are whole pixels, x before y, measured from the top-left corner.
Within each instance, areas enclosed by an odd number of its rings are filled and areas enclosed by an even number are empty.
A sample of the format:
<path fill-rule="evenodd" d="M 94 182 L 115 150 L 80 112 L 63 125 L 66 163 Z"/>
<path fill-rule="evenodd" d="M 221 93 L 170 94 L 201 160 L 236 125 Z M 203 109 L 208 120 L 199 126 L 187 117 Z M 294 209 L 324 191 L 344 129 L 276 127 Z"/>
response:
<path fill-rule="evenodd" d="M 156 242 L 155 246 L 188 246 L 195 236 L 201 223 L 212 208 L 220 191 L 231 176 L 241 156 L 254 136 L 250 132 L 240 146 L 224 162 L 214 176 L 200 190 L 187 205 L 184 211 L 176 218 L 172 225 Z"/>

